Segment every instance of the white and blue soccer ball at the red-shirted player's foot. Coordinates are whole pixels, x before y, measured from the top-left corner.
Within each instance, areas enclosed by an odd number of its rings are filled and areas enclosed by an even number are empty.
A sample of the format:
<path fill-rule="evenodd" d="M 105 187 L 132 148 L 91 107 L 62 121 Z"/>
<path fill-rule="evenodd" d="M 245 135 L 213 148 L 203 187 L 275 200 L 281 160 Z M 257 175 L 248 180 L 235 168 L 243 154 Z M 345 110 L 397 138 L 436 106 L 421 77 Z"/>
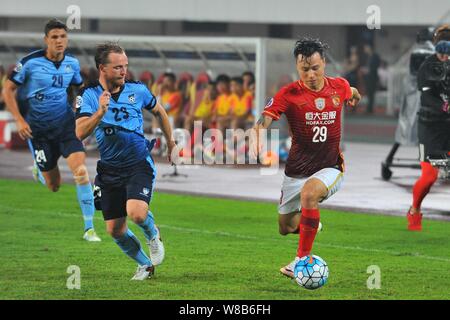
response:
<path fill-rule="evenodd" d="M 304 256 L 295 265 L 294 277 L 303 288 L 318 289 L 327 282 L 328 265 L 319 256 Z"/>

